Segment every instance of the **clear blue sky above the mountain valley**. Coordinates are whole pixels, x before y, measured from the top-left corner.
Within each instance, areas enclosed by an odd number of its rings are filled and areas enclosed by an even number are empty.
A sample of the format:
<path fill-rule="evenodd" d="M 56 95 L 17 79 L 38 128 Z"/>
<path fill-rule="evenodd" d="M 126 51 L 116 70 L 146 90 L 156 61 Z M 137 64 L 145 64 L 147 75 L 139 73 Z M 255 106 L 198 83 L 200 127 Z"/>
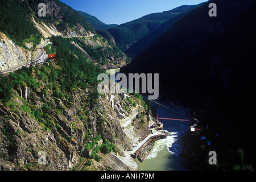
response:
<path fill-rule="evenodd" d="M 106 24 L 122 24 L 144 15 L 197 5 L 207 0 L 60 0 L 75 10 L 96 16 Z"/>

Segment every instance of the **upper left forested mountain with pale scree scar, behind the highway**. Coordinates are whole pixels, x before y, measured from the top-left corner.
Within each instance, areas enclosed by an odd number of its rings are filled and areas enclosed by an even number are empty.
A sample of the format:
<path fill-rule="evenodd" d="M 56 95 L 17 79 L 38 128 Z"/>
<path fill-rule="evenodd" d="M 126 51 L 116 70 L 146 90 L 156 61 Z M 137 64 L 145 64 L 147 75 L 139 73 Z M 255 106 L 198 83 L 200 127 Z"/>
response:
<path fill-rule="evenodd" d="M 98 35 L 88 20 L 60 1 L 4 0 L 0 3 L 0 31 L 20 47 L 30 49 L 26 45 L 31 44 L 35 48 L 42 38 L 61 35 L 86 44 L 86 51 L 90 49 L 93 52 L 90 56 L 100 67 L 116 68 L 126 64 L 125 53 L 115 46 L 111 38 Z M 46 4 L 46 17 L 39 17 L 39 3 Z"/>

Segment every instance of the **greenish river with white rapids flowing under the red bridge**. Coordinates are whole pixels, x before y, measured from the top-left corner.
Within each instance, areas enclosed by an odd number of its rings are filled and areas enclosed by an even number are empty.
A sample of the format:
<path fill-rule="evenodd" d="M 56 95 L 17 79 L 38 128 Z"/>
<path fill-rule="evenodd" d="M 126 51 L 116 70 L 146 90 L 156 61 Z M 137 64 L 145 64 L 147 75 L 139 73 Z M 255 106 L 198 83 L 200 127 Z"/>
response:
<path fill-rule="evenodd" d="M 164 102 L 151 101 L 152 106 L 156 106 L 159 117 L 190 119 L 187 115 L 181 114 Z M 167 108 L 168 107 L 168 108 Z M 188 130 L 190 122 L 188 121 L 171 121 L 159 119 L 163 123 L 164 130 L 169 131 L 166 139 L 155 142 L 150 154 L 143 162 L 136 162 L 139 171 L 185 171 L 186 169 L 180 164 L 179 152 L 180 141 Z"/>

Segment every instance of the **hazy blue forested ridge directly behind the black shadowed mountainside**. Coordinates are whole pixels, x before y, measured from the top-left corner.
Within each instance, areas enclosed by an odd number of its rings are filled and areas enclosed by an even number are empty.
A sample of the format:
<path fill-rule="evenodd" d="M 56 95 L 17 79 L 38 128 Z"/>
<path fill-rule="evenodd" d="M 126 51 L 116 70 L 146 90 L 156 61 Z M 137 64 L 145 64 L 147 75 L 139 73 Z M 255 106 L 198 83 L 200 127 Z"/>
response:
<path fill-rule="evenodd" d="M 131 22 L 120 24 L 117 27 L 109 28 L 108 31 L 122 51 L 126 51 L 126 49 L 143 38 L 143 36 L 156 30 L 160 24 L 183 13 L 190 7 L 191 6 L 180 6 L 170 11 L 149 14 Z"/>

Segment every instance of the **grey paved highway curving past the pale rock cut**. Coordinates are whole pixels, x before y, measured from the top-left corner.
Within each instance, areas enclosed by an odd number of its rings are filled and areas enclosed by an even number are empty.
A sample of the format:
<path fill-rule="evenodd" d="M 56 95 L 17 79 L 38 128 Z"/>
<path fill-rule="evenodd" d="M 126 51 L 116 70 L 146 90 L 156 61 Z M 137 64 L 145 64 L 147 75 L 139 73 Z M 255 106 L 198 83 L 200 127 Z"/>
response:
<path fill-rule="evenodd" d="M 22 68 L 24 66 L 26 66 L 27 64 L 31 64 L 33 61 L 35 61 L 36 59 L 39 59 L 39 57 L 42 57 L 44 55 L 44 51 L 43 51 L 43 47 L 46 46 L 48 44 L 49 40 L 46 39 L 44 41 L 43 44 L 40 44 L 38 46 L 38 49 L 37 49 L 37 52 L 36 52 L 36 55 L 31 59 L 31 60 L 28 60 L 26 62 L 23 62 L 23 63 L 20 63 L 18 65 L 16 65 L 15 67 L 11 67 L 11 68 L 8 68 L 8 69 L 5 69 L 4 71 L 2 71 L 2 73 L 8 73 L 8 72 L 12 72 L 12 71 L 15 71 L 19 68 Z"/>

